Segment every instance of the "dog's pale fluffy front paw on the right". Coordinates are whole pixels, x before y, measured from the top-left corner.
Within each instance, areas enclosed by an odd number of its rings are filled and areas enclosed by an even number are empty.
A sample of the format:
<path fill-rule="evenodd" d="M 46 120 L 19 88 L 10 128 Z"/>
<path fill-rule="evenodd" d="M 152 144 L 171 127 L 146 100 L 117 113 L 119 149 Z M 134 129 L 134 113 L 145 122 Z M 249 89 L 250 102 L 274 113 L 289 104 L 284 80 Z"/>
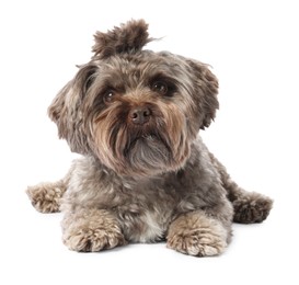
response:
<path fill-rule="evenodd" d="M 179 252 L 208 256 L 223 252 L 230 232 L 216 218 L 203 210 L 195 210 L 179 216 L 169 228 L 168 247 Z"/>

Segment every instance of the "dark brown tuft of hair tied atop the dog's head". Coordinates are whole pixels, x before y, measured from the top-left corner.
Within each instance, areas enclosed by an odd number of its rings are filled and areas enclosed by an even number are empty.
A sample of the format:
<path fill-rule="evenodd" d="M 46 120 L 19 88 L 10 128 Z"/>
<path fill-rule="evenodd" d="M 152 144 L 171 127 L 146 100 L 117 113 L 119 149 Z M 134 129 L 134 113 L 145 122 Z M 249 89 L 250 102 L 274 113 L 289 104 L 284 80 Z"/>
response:
<path fill-rule="evenodd" d="M 148 24 L 143 20 L 131 20 L 107 33 L 96 32 L 92 48 L 93 59 L 102 59 L 120 53 L 140 50 L 149 38 Z"/>

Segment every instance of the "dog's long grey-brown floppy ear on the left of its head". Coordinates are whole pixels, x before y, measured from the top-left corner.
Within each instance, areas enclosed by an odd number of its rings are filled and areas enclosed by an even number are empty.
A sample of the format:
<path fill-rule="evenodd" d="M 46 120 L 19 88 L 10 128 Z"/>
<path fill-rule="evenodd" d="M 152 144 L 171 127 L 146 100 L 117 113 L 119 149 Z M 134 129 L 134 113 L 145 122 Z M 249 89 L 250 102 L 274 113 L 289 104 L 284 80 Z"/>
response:
<path fill-rule="evenodd" d="M 56 95 L 48 107 L 48 115 L 57 124 L 60 138 L 65 138 L 70 149 L 78 153 L 88 153 L 89 145 L 82 116 L 82 102 L 93 82 L 97 67 L 80 67 L 76 77 Z"/>

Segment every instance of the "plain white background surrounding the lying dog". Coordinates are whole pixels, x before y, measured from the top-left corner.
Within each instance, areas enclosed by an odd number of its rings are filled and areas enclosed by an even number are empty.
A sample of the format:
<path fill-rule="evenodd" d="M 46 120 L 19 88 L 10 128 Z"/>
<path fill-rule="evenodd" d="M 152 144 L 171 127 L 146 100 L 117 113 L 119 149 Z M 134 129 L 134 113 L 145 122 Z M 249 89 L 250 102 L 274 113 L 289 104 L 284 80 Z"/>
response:
<path fill-rule="evenodd" d="M 5 3 L 4 3 L 5 2 Z M 1 1 L 1 284 L 298 284 L 298 1 Z M 159 244 L 77 253 L 61 214 L 42 215 L 27 185 L 65 174 L 76 155 L 46 110 L 91 57 L 92 35 L 143 18 L 148 48 L 214 67 L 220 111 L 203 132 L 243 187 L 275 200 L 261 225 L 234 225 L 225 254 Z"/>

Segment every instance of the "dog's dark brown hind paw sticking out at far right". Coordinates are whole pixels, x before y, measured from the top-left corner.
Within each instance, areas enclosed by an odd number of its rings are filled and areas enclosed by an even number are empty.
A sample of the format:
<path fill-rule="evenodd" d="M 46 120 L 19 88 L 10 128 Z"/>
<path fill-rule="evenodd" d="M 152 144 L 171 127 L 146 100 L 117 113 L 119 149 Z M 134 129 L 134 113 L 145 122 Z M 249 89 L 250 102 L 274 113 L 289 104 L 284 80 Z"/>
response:
<path fill-rule="evenodd" d="M 233 221 L 241 224 L 262 223 L 272 209 L 273 201 L 258 193 L 249 193 L 232 202 Z"/>

